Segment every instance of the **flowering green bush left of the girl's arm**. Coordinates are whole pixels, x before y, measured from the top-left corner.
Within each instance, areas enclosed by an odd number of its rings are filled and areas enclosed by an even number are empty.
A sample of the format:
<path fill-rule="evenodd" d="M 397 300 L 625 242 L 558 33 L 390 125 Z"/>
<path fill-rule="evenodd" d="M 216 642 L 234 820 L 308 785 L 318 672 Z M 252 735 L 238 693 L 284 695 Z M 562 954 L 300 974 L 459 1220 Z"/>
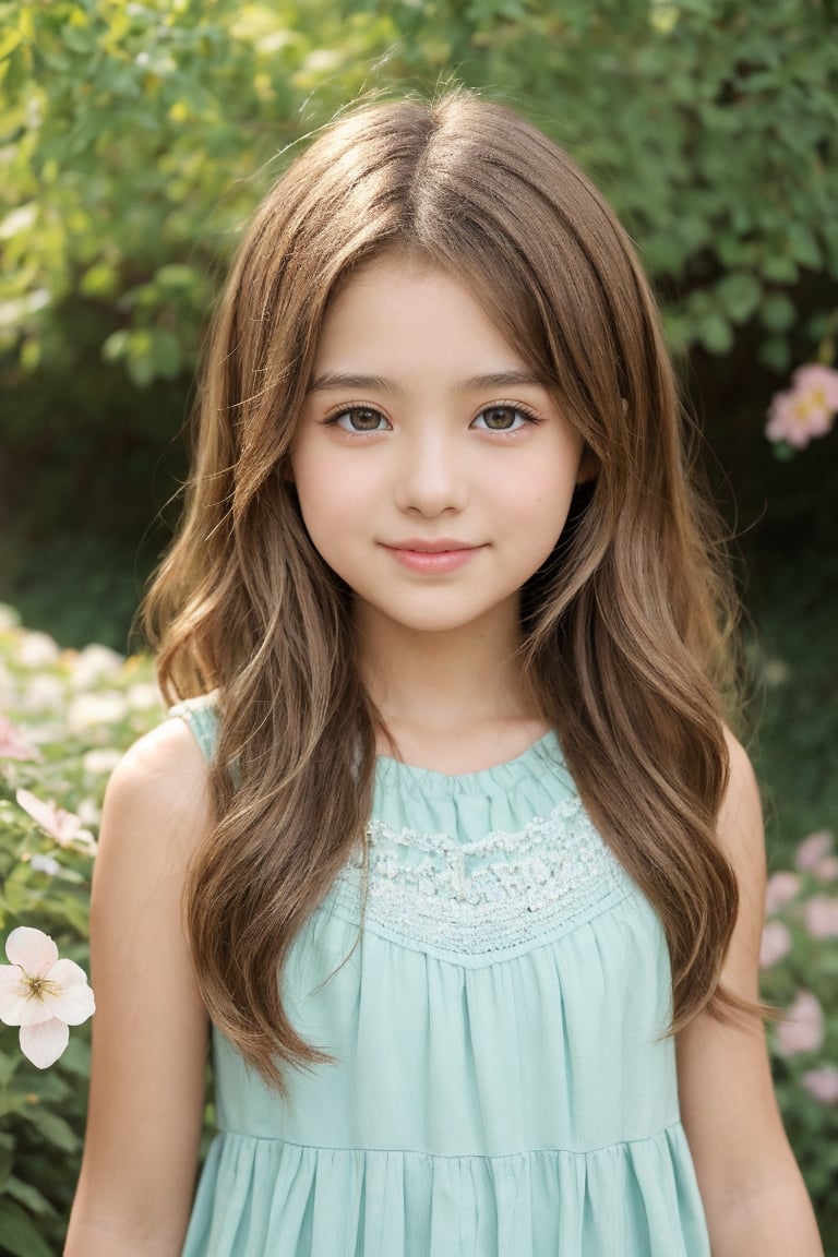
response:
<path fill-rule="evenodd" d="M 34 925 L 89 972 L 89 851 L 57 843 L 15 794 L 30 789 L 94 830 L 119 749 L 161 718 L 151 665 L 98 646 L 62 652 L 0 607 L 0 696 L 33 750 L 30 759 L 0 757 L 0 935 Z M 0 1253 L 62 1251 L 88 1073 L 89 1023 L 73 1027 L 69 1047 L 43 1072 L 20 1053 L 16 1029 L 0 1026 Z"/>

